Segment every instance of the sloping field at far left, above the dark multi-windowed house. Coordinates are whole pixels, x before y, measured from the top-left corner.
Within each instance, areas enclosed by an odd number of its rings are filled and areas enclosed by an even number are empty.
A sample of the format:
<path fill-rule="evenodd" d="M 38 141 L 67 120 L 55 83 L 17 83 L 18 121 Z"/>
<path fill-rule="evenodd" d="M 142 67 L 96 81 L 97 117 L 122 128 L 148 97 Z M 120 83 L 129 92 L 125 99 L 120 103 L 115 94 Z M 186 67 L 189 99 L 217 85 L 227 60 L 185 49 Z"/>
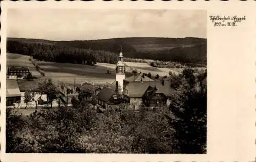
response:
<path fill-rule="evenodd" d="M 42 77 L 34 67 L 34 65 L 29 61 L 29 56 L 19 55 L 15 53 L 6 53 L 7 55 L 7 67 L 9 66 L 24 66 L 28 67 L 33 76 L 40 78 Z"/>

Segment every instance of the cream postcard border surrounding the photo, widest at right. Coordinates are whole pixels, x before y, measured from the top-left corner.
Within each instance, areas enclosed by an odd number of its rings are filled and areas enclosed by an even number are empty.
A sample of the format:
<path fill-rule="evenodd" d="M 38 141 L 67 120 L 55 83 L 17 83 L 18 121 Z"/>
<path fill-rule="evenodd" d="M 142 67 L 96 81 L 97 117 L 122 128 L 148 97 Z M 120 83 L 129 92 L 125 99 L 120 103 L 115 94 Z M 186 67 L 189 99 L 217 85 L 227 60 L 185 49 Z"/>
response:
<path fill-rule="evenodd" d="M 5 154 L 6 14 L 8 8 L 201 9 L 208 15 L 246 15 L 237 28 L 207 28 L 207 154 Z M 253 161 L 255 160 L 256 3 L 253 1 L 48 1 L 1 3 L 2 161 Z M 189 23 L 189 22 L 188 22 Z"/>

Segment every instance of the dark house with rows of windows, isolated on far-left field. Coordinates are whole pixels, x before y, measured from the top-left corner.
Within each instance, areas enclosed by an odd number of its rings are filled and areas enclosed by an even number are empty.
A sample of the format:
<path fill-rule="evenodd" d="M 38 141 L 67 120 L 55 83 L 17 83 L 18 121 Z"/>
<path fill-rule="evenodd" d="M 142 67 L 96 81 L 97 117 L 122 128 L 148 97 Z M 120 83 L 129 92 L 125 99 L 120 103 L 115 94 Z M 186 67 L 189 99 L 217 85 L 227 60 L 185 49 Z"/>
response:
<path fill-rule="evenodd" d="M 29 74 L 29 68 L 27 67 L 15 67 L 11 66 L 7 70 L 9 79 L 23 79 Z"/>

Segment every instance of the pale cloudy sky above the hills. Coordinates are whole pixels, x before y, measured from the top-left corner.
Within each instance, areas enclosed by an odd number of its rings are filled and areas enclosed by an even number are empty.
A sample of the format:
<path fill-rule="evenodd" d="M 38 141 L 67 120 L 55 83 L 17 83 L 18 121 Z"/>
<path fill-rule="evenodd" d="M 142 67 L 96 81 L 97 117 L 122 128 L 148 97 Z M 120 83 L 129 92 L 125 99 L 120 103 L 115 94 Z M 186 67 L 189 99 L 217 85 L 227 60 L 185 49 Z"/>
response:
<path fill-rule="evenodd" d="M 94 40 L 206 38 L 205 10 L 9 9 L 7 37 Z"/>

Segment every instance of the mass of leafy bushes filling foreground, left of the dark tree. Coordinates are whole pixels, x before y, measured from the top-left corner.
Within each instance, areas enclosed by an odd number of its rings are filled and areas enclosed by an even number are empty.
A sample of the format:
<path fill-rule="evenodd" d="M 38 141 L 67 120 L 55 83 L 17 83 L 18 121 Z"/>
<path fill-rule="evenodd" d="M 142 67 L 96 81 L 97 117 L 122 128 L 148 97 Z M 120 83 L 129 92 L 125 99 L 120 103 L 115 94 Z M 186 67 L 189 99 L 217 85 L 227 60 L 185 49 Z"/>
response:
<path fill-rule="evenodd" d="M 165 114 L 129 110 L 98 114 L 90 104 L 60 106 L 28 116 L 28 125 L 18 127 L 19 141 L 7 141 L 7 146 L 13 148 L 9 152 L 171 153 L 173 129 Z"/>

